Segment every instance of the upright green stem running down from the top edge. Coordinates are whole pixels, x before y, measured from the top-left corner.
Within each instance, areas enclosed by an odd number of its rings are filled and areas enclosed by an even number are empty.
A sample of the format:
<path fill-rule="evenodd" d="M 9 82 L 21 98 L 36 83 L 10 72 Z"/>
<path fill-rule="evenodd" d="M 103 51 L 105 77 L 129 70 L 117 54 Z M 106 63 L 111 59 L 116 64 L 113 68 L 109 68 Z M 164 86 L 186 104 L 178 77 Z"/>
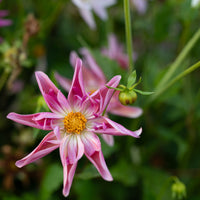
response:
<path fill-rule="evenodd" d="M 126 29 L 126 48 L 129 59 L 129 73 L 133 71 L 133 49 L 132 49 L 132 32 L 129 0 L 124 0 L 124 15 Z"/>

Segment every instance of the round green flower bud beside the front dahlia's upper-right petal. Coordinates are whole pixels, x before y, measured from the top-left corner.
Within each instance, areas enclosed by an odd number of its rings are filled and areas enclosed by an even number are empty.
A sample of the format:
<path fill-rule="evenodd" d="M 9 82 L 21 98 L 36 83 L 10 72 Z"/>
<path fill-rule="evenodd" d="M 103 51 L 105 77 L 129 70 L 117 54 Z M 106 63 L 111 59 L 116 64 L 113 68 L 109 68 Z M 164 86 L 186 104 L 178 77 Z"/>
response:
<path fill-rule="evenodd" d="M 136 101 L 136 99 L 137 99 L 137 94 L 133 90 L 131 91 L 125 90 L 119 93 L 119 101 L 123 105 L 132 104 Z"/>

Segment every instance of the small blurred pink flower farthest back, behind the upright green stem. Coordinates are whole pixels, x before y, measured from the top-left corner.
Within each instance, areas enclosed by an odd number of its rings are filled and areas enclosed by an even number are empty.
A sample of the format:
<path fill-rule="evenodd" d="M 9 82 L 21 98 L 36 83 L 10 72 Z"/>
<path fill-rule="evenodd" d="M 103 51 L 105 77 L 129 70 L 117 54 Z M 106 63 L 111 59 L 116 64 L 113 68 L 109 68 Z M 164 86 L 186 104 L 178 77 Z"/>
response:
<path fill-rule="evenodd" d="M 108 48 L 104 47 L 102 49 L 102 54 L 110 58 L 111 60 L 116 60 L 120 67 L 128 69 L 128 55 L 124 53 L 124 47 L 119 43 L 114 34 L 110 34 L 108 37 Z M 133 55 L 133 59 L 136 59 L 136 55 Z"/>

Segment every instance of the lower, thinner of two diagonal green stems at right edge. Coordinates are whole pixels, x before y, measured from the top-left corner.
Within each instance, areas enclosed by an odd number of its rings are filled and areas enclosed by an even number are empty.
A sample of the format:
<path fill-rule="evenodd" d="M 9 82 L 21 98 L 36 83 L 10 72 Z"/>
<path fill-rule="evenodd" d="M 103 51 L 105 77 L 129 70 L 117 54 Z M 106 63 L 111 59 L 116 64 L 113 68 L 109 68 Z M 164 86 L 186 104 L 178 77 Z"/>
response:
<path fill-rule="evenodd" d="M 178 76 L 173 78 L 168 84 L 166 84 L 164 87 L 162 87 L 160 90 L 158 90 L 154 96 L 152 96 L 152 100 L 155 100 L 158 98 L 165 90 L 167 90 L 169 87 L 171 87 L 174 83 L 176 83 L 178 80 L 183 78 L 184 76 L 188 75 L 189 73 L 193 72 L 195 69 L 200 67 L 200 61 L 186 69 L 184 72 L 180 73 Z"/>

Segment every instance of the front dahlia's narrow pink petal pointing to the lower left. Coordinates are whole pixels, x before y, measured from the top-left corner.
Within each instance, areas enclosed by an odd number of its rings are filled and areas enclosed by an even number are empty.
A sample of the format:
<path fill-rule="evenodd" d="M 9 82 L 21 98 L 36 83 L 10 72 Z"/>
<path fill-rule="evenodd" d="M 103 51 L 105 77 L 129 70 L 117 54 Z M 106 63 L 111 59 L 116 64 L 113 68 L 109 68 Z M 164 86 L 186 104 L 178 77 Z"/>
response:
<path fill-rule="evenodd" d="M 16 162 L 16 166 L 21 168 L 29 163 L 32 163 L 46 156 L 53 150 L 57 149 L 59 146 L 60 143 L 57 140 L 54 132 L 52 131 L 43 138 L 41 143 L 29 155 L 27 155 L 21 160 L 18 160 Z"/>

